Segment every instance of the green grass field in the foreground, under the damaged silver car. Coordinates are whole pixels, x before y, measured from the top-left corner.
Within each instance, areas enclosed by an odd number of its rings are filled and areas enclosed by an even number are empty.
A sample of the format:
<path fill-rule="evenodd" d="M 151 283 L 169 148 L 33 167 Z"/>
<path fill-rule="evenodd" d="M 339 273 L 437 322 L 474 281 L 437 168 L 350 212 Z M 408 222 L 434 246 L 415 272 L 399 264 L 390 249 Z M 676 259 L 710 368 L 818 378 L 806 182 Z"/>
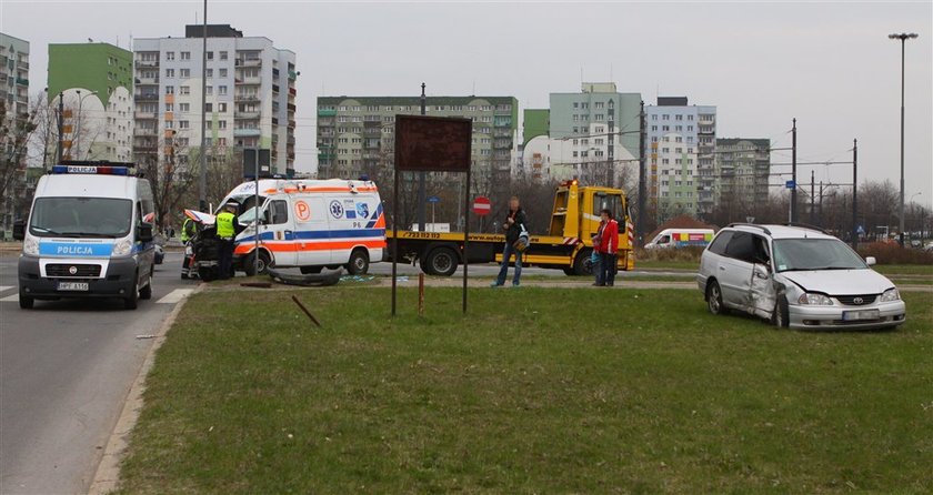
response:
<path fill-rule="evenodd" d="M 323 323 L 311 326 L 298 294 Z M 122 493 L 933 491 L 933 304 L 779 331 L 693 291 L 204 292 Z"/>

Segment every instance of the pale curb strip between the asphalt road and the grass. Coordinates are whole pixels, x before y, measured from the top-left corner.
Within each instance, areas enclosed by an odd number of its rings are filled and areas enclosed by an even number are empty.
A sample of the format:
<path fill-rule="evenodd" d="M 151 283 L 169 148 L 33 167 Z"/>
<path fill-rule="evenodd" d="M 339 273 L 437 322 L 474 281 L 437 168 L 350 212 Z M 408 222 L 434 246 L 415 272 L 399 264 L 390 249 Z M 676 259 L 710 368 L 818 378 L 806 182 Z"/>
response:
<path fill-rule="evenodd" d="M 133 380 L 130 391 L 127 393 L 127 398 L 123 401 L 123 410 L 120 412 L 120 417 L 117 420 L 113 431 L 110 432 L 110 438 L 107 441 L 103 456 L 100 459 L 100 464 L 98 464 L 97 472 L 91 481 L 91 486 L 88 488 L 89 495 L 104 495 L 117 489 L 117 485 L 120 482 L 120 462 L 123 459 L 128 446 L 127 437 L 133 431 L 137 421 L 139 421 L 139 413 L 142 411 L 142 393 L 146 391 L 146 377 L 149 375 L 149 371 L 152 370 L 152 365 L 156 362 L 156 352 L 165 342 L 165 335 L 169 329 L 172 327 L 172 324 L 174 324 L 184 304 L 192 295 L 201 292 L 204 285 L 199 284 L 188 297 L 179 301 L 156 332 L 156 341 L 149 347 L 146 360 L 143 360 L 139 373 Z"/>

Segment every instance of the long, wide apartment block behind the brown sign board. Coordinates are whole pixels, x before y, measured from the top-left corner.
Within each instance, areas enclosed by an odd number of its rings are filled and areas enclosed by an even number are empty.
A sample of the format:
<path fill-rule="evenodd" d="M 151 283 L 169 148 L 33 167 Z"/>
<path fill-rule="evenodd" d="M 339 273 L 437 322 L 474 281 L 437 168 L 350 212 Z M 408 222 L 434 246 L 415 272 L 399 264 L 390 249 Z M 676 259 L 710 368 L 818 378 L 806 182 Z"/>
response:
<path fill-rule="evenodd" d="M 473 121 L 473 170 L 508 179 L 518 134 L 513 97 L 428 97 L 425 113 Z M 318 176 L 355 178 L 392 166 L 397 114 L 421 113 L 419 97 L 318 98 Z"/>

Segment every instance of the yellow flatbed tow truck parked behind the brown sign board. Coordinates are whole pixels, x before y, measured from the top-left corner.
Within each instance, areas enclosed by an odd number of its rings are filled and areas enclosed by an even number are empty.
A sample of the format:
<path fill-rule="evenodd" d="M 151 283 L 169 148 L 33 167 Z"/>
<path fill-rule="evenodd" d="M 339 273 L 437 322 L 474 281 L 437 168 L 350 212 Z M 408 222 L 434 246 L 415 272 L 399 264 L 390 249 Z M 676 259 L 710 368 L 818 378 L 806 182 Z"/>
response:
<path fill-rule="evenodd" d="M 635 264 L 634 228 L 629 215 L 629 203 L 621 189 L 581 186 L 578 180 L 564 181 L 554 193 L 551 223 L 544 235 L 532 235 L 531 244 L 522 259 L 523 266 L 563 270 L 568 275 L 593 273 L 591 255 L 592 236 L 600 225 L 600 211 L 609 209 L 619 222 L 619 270 L 633 270 Z M 623 228 L 624 225 L 624 228 Z M 392 230 L 387 231 L 387 256 L 393 252 Z M 419 263 L 428 275 L 450 276 L 464 262 L 463 232 L 399 231 L 398 261 Z M 469 263 L 502 262 L 503 234 L 471 233 Z"/>

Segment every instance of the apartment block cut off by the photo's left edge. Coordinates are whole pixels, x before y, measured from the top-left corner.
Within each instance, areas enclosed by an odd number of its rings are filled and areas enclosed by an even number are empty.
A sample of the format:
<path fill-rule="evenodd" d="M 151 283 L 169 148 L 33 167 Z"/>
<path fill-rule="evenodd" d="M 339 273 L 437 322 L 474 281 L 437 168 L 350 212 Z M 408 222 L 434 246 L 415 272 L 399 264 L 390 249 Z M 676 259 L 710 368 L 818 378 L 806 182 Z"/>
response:
<path fill-rule="evenodd" d="M 0 101 L 3 102 L 4 125 L 16 129 L 18 121 L 29 114 L 29 41 L 3 33 L 0 33 Z M 17 148 L 13 143 L 16 139 L 16 132 L 0 135 L 0 152 L 4 155 L 3 160 L 7 160 L 6 156 L 13 153 L 13 149 Z M 18 171 L 22 169 L 22 174 L 17 172 L 17 178 L 6 190 L 0 191 L 2 194 L 0 230 L 3 231 L 6 238 L 11 235 L 13 221 L 23 215 L 21 200 L 30 195 L 26 153 L 21 154 L 23 159 L 16 166 Z M 26 208 L 28 212 L 28 206 Z"/>

